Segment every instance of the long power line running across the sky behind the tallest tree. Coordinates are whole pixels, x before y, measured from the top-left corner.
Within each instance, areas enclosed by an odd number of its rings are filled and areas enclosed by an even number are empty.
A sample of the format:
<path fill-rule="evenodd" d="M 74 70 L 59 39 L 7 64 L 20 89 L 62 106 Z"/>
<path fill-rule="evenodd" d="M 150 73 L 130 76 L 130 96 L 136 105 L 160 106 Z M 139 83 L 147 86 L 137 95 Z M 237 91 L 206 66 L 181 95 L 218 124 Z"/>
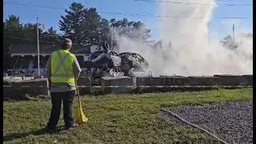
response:
<path fill-rule="evenodd" d="M 14 2 L 4 2 L 4 4 L 10 5 L 18 5 L 18 6 L 34 6 L 34 7 L 41 7 L 53 10 L 65 10 L 64 8 L 59 7 L 51 7 L 51 6 L 37 6 L 37 5 L 26 5 L 24 3 L 14 3 Z M 101 14 L 118 14 L 118 15 L 129 15 L 129 16 L 142 16 L 142 17 L 152 17 L 152 18 L 195 18 L 195 19 L 202 19 L 204 17 L 188 17 L 188 16 L 173 16 L 173 15 L 154 15 L 154 14 L 125 14 L 125 13 L 117 13 L 117 12 L 107 12 L 107 11 L 98 11 Z M 218 17 L 220 19 L 246 19 L 248 17 Z"/>

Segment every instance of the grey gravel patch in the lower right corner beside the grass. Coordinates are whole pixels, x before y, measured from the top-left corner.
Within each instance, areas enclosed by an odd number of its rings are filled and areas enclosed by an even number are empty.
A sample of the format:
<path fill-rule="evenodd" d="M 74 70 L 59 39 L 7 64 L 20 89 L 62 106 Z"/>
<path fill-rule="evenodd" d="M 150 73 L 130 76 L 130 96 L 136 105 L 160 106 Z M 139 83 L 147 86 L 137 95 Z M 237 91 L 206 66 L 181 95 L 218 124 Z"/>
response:
<path fill-rule="evenodd" d="M 182 106 L 166 109 L 230 143 L 253 143 L 253 103 Z M 168 115 L 170 117 L 170 115 Z"/>

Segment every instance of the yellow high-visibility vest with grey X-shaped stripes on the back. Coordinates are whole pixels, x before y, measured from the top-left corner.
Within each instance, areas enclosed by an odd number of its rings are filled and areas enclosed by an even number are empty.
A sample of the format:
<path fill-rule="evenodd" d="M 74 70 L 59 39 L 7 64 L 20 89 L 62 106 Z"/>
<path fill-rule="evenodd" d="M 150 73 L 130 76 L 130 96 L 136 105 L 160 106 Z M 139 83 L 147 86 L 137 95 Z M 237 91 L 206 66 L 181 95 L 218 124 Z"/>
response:
<path fill-rule="evenodd" d="M 75 55 L 69 50 L 58 50 L 51 54 L 51 82 L 74 83 L 74 58 Z"/>

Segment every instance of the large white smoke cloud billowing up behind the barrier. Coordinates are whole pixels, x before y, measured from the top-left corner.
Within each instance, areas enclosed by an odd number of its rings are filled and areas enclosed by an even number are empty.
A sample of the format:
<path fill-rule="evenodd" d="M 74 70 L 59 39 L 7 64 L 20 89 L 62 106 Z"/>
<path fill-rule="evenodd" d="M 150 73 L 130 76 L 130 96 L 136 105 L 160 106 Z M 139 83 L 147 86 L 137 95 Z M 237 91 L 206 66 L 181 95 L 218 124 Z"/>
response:
<path fill-rule="evenodd" d="M 214 0 L 210 0 L 209 3 L 214 3 Z M 155 76 L 252 74 L 252 38 L 244 38 L 237 34 L 237 50 L 223 47 L 218 39 L 209 39 L 208 24 L 214 5 L 184 6 L 160 2 L 159 8 L 160 15 L 190 18 L 160 19 L 162 49 L 153 49 L 139 39 L 118 36 L 119 52 L 133 51 L 141 54 L 150 64 L 148 70 Z M 168 45 L 169 42 L 172 44 L 171 47 Z"/>

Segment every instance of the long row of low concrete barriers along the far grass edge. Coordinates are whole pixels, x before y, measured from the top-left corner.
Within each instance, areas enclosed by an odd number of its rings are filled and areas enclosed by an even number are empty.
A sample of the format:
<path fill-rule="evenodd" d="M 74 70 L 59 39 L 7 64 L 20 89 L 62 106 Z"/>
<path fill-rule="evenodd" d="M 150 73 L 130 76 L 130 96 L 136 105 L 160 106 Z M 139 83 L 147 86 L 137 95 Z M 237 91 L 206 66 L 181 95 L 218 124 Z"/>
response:
<path fill-rule="evenodd" d="M 214 77 L 182 77 L 182 76 L 160 76 L 160 77 L 80 77 L 78 86 L 80 94 L 109 94 L 154 92 L 172 90 L 210 90 L 218 86 L 253 86 L 253 75 L 214 75 Z M 33 77 L 4 77 L 4 97 L 38 96 L 40 94 L 50 96 L 47 78 Z M 112 87 L 107 87 L 112 86 Z M 128 86 L 128 87 L 122 87 Z M 180 87 L 178 87 L 180 86 Z M 190 87 L 191 86 L 191 87 Z"/>

